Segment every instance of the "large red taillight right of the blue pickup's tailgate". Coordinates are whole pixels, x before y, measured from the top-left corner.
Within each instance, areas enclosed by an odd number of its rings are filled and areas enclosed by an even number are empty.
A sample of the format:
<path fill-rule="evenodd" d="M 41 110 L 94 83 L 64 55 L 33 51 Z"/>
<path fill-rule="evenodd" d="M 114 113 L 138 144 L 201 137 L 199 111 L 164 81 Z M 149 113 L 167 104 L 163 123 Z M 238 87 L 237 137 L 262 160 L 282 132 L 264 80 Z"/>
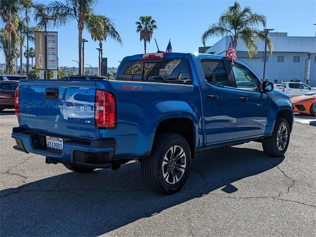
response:
<path fill-rule="evenodd" d="M 112 93 L 104 90 L 96 90 L 94 107 L 95 125 L 97 127 L 116 127 L 116 102 Z"/>

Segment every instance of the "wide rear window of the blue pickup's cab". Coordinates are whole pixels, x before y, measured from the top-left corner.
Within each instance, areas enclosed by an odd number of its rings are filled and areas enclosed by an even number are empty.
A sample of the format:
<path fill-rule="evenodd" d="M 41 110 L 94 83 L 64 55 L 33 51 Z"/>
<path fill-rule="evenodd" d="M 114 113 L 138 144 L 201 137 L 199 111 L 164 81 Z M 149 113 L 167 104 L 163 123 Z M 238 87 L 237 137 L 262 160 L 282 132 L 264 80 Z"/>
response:
<path fill-rule="evenodd" d="M 127 60 L 119 68 L 117 80 L 191 84 L 186 59 Z"/>

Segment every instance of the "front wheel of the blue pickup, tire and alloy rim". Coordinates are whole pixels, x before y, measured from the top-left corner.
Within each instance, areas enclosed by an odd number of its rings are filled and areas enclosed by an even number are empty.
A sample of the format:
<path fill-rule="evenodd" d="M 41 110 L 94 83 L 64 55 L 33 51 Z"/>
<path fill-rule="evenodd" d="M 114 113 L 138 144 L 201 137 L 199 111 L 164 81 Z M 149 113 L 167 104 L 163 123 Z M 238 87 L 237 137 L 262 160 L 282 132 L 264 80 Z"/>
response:
<path fill-rule="evenodd" d="M 282 130 L 285 126 L 285 130 Z M 270 157 L 281 157 L 285 154 L 290 141 L 290 126 L 284 117 L 277 117 L 273 134 L 262 142 L 263 151 Z"/>

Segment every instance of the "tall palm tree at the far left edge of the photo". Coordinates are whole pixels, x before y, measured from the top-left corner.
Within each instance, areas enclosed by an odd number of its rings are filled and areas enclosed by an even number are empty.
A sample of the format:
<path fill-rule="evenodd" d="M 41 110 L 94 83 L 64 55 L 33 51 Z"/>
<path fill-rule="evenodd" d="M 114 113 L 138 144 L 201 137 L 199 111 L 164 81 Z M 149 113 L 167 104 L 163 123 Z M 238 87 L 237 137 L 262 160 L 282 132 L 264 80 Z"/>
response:
<path fill-rule="evenodd" d="M 0 18 L 4 23 L 3 39 L 6 39 L 7 45 L 4 47 L 5 53 L 5 71 L 7 74 L 13 74 L 13 59 L 15 55 L 16 36 L 18 34 L 17 24 L 19 22 L 19 1 L 18 0 L 0 0 Z M 3 46 L 3 45 L 2 45 Z"/>

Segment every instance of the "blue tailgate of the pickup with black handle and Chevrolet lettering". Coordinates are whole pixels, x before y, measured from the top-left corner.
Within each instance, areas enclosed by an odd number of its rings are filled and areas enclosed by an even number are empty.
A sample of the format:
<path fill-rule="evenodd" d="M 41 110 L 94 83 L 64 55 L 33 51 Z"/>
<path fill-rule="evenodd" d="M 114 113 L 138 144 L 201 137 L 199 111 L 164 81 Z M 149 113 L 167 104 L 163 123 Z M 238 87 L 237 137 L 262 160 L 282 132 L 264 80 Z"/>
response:
<path fill-rule="evenodd" d="M 20 80 L 21 128 L 94 139 L 95 81 Z"/>

